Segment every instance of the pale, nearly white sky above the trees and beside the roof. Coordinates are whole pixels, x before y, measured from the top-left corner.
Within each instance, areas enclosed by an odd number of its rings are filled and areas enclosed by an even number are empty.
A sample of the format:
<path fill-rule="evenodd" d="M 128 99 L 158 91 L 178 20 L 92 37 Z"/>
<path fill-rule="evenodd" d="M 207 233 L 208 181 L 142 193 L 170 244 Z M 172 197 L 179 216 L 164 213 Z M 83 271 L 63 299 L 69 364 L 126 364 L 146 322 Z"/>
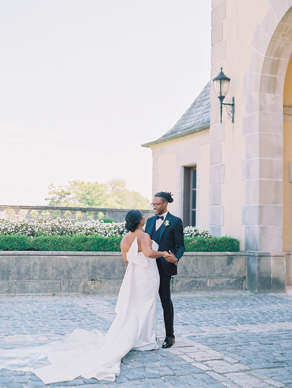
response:
<path fill-rule="evenodd" d="M 126 180 L 210 79 L 210 0 L 0 0 L 0 205 Z M 164 188 L 161 190 L 174 190 Z"/>

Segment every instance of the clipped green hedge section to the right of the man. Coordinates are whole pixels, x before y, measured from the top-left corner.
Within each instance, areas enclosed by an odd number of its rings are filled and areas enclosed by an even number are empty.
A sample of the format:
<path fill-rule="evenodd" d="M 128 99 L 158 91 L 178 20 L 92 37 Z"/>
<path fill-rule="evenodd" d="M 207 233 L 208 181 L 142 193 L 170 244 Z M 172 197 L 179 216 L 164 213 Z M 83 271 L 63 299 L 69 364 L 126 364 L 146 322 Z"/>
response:
<path fill-rule="evenodd" d="M 232 237 L 185 238 L 186 252 L 238 252 L 239 241 Z"/>

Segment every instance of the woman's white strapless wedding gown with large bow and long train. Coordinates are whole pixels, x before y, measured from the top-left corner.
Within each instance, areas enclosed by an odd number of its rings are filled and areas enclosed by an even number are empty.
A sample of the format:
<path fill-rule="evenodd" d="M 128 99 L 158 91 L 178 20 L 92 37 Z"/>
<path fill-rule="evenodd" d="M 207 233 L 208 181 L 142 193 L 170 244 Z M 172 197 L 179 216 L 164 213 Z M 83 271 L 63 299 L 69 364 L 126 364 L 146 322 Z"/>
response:
<path fill-rule="evenodd" d="M 158 250 L 156 242 L 152 249 Z M 96 329 L 76 329 L 65 340 L 0 350 L 0 369 L 31 370 L 45 384 L 78 376 L 114 381 L 130 350 L 154 350 L 159 274 L 156 260 L 138 252 L 137 238 L 127 252 L 128 267 L 117 298 L 117 316 L 105 336 Z M 64 338 L 64 337 L 63 337 Z M 45 358 L 47 357 L 47 359 Z M 45 358 L 45 365 L 35 367 Z"/>

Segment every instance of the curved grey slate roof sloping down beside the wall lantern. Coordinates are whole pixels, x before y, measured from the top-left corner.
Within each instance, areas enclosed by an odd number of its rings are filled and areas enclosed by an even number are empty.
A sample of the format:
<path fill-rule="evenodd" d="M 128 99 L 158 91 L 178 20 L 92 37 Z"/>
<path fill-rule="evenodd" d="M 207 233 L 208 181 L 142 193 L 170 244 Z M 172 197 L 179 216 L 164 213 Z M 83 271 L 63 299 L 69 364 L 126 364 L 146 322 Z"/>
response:
<path fill-rule="evenodd" d="M 200 92 L 192 105 L 171 130 L 154 142 L 142 144 L 142 146 L 149 147 L 149 145 L 162 143 L 163 141 L 169 140 L 169 138 L 188 135 L 205 129 L 204 127 L 208 127 L 210 125 L 210 85 L 211 81 L 207 83 L 202 92 Z"/>

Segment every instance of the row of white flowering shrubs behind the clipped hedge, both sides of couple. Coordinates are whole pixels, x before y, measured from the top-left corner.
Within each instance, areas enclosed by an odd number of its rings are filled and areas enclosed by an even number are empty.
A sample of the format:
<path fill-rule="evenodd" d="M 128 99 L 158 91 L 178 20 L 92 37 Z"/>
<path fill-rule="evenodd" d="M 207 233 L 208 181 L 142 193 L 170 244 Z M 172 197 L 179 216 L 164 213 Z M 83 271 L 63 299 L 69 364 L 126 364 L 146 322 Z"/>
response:
<path fill-rule="evenodd" d="M 184 235 L 188 238 L 211 237 L 208 230 L 197 229 L 194 226 L 184 228 Z M 88 220 L 79 222 L 70 218 L 49 218 L 36 217 L 30 220 L 19 220 L 18 222 L 0 220 L 0 234 L 25 234 L 37 236 L 42 234 L 54 234 L 58 236 L 73 234 L 84 234 L 91 236 L 98 234 L 102 237 L 124 236 L 128 231 L 124 222 L 104 222 L 103 220 Z"/>

